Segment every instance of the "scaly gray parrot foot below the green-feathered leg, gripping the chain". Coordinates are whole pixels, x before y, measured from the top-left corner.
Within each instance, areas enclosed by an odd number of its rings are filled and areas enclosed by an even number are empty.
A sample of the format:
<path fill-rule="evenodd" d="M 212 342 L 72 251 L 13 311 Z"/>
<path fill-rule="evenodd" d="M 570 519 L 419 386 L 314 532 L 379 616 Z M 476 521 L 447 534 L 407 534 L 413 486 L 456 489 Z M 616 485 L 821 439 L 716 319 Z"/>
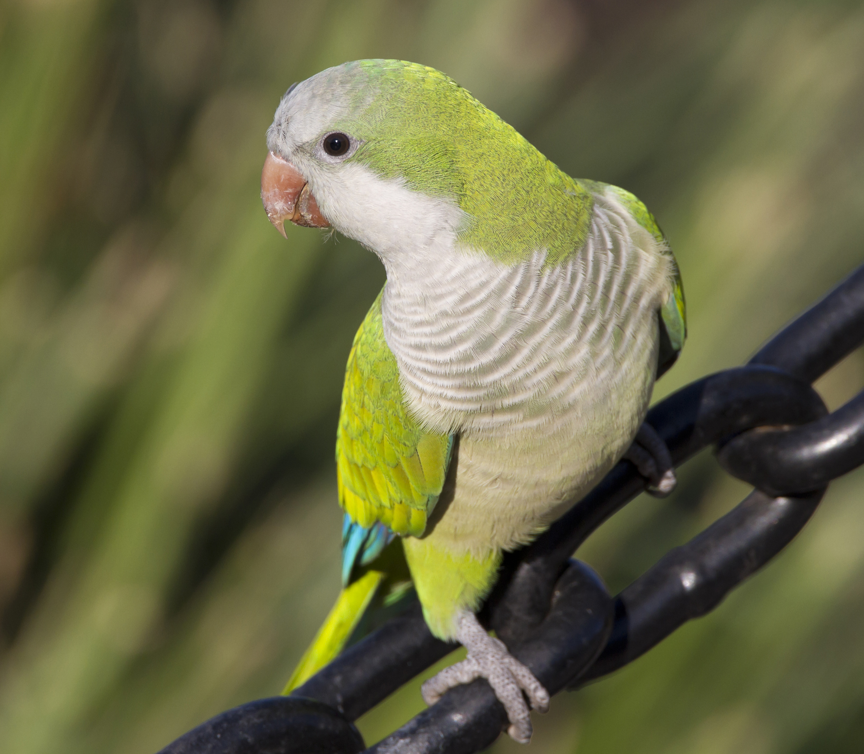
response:
<path fill-rule="evenodd" d="M 468 650 L 468 656 L 426 681 L 420 689 L 423 699 L 433 705 L 454 686 L 485 678 L 507 711 L 510 719 L 507 732 L 513 740 L 527 744 L 531 739 L 531 719 L 523 692 L 537 712 L 549 709 L 549 692 L 507 651 L 504 642 L 486 633 L 473 613 L 465 611 L 457 620 L 456 638 Z"/>

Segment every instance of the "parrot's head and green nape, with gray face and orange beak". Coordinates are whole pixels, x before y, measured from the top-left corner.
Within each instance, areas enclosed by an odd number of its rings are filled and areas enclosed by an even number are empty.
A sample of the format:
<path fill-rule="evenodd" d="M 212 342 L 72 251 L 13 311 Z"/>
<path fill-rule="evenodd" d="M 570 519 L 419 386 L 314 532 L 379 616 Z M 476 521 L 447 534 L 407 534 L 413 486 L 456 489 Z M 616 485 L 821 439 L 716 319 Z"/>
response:
<path fill-rule="evenodd" d="M 385 265 L 442 244 L 548 247 L 529 238 L 550 227 L 537 212 L 551 214 L 550 188 L 575 195 L 511 126 L 416 63 L 353 61 L 292 86 L 267 147 L 261 196 L 276 228 L 333 226 Z"/>

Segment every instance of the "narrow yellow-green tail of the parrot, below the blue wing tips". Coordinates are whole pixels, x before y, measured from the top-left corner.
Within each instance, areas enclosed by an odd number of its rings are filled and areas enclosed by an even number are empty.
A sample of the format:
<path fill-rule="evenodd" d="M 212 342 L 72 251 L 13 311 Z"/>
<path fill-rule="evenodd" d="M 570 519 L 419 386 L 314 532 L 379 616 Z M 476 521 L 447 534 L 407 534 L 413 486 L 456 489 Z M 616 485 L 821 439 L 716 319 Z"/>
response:
<path fill-rule="evenodd" d="M 283 694 L 291 693 L 339 655 L 372 602 L 383 578 L 384 573 L 380 571 L 368 571 L 341 591 L 327 620 L 297 663 Z"/>

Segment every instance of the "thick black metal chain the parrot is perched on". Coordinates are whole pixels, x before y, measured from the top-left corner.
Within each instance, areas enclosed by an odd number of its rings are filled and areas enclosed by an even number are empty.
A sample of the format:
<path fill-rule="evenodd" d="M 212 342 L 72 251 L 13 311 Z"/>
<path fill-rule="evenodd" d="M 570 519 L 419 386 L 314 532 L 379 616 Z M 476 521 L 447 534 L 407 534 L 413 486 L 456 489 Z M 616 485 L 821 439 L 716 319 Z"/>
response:
<path fill-rule="evenodd" d="M 810 383 L 864 342 L 864 266 L 775 335 L 746 365 L 712 374 L 646 419 L 676 466 L 708 445 L 754 490 L 610 597 L 571 554 L 645 489 L 621 461 L 533 544 L 505 558 L 481 619 L 550 693 L 617 670 L 713 610 L 800 531 L 828 483 L 864 464 L 864 390 L 829 413 Z M 356 754 L 352 720 L 454 649 L 414 605 L 347 649 L 289 697 L 235 707 L 161 754 Z M 506 725 L 486 681 L 444 694 L 369 752 L 471 754 Z"/>

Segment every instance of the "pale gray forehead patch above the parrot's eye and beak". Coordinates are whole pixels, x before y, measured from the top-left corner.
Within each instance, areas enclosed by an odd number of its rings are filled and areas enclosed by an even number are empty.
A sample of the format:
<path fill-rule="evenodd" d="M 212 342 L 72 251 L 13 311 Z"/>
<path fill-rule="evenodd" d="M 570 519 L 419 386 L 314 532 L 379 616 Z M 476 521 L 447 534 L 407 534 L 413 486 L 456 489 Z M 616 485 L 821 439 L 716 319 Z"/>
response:
<path fill-rule="evenodd" d="M 351 121 L 374 97 L 374 86 L 357 63 L 327 68 L 286 93 L 267 132 L 270 150 L 290 151 Z"/>

